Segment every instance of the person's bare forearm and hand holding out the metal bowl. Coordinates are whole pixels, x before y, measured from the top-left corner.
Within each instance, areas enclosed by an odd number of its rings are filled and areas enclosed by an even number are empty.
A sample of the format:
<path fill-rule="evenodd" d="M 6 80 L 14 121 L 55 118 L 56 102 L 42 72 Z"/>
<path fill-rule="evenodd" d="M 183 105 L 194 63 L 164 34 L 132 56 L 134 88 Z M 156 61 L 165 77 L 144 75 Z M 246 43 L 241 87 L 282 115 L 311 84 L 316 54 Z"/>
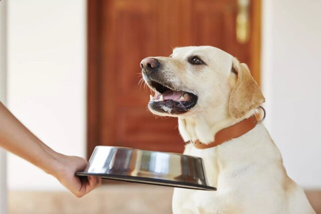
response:
<path fill-rule="evenodd" d="M 76 171 L 83 170 L 87 161 L 77 156 L 58 153 L 29 131 L 0 102 L 0 146 L 26 159 L 56 177 L 77 197 L 81 197 L 101 185 L 101 179 L 89 176 L 81 179 Z"/>

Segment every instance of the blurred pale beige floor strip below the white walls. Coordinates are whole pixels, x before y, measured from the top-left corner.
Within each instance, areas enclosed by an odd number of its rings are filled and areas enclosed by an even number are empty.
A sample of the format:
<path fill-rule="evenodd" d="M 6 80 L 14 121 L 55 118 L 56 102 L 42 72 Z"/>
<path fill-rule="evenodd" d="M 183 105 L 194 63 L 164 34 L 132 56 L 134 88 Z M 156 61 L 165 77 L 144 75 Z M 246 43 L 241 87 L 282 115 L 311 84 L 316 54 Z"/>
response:
<path fill-rule="evenodd" d="M 173 188 L 144 184 L 104 185 L 82 198 L 69 192 L 9 193 L 10 214 L 170 214 Z M 307 191 L 321 214 L 321 191 Z"/>

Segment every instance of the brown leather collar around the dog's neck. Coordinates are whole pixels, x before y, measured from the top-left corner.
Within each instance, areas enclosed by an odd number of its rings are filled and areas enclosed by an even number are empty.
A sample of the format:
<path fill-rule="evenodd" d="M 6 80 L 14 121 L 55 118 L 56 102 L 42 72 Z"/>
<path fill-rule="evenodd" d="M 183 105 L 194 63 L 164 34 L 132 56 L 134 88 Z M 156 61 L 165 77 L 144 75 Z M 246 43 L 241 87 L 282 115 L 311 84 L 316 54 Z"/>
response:
<path fill-rule="evenodd" d="M 226 141 L 229 141 L 233 138 L 238 138 L 242 136 L 243 134 L 252 130 L 256 126 L 256 124 L 257 124 L 257 120 L 255 115 L 253 114 L 249 118 L 246 118 L 238 123 L 235 123 L 234 125 L 231 125 L 229 127 L 226 127 L 218 131 L 215 134 L 214 142 L 211 142 L 209 144 L 204 144 L 204 143 L 201 143 L 199 140 L 195 140 L 195 141 L 190 140 L 190 143 L 192 143 L 195 146 L 195 148 L 198 148 L 198 149 L 211 148 L 211 147 L 220 145 Z"/>

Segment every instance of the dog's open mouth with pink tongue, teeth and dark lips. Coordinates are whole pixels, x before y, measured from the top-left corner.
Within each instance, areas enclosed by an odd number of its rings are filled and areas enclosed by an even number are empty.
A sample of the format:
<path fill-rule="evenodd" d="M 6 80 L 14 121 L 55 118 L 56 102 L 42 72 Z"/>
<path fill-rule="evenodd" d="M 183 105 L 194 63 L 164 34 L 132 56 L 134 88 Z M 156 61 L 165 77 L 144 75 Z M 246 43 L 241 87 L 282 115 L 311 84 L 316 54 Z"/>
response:
<path fill-rule="evenodd" d="M 148 85 L 155 91 L 150 95 L 149 108 L 168 114 L 182 114 L 193 108 L 197 103 L 197 96 L 186 91 L 176 91 L 169 86 L 156 81 L 149 81 Z"/>

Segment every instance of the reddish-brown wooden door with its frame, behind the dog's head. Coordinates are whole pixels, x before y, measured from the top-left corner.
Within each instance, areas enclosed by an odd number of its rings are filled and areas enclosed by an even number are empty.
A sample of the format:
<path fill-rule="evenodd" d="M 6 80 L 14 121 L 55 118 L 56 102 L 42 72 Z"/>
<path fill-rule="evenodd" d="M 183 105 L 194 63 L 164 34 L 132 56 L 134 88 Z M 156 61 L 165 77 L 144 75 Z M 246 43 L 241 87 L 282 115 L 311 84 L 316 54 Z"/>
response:
<path fill-rule="evenodd" d="M 250 38 L 236 40 L 236 0 L 88 0 L 88 156 L 96 145 L 182 152 L 176 118 L 147 110 L 139 62 L 172 48 L 211 45 L 249 65 L 259 82 L 260 1 Z"/>

